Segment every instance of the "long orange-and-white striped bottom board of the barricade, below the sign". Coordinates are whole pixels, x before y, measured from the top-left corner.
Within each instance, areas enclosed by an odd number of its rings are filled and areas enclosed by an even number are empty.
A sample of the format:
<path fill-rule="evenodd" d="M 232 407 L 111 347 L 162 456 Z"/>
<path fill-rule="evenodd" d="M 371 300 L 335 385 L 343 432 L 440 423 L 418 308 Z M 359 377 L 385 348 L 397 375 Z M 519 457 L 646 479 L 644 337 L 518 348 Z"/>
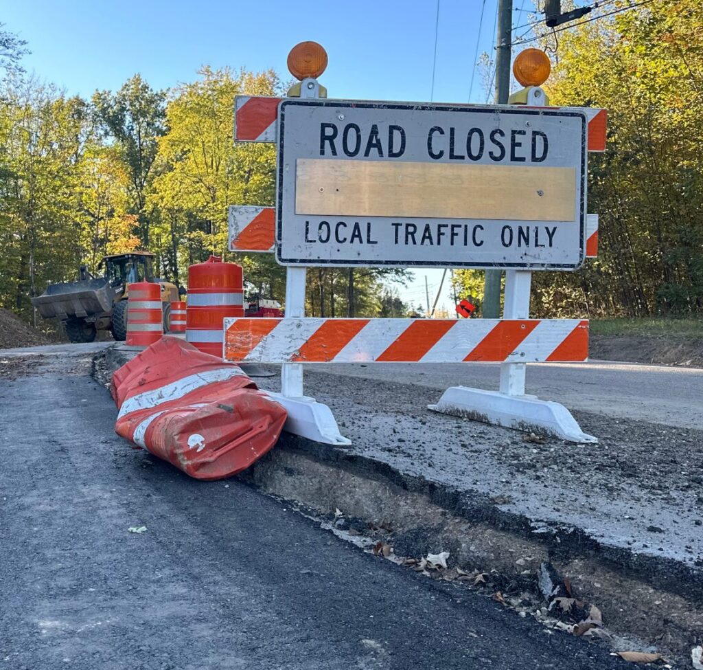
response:
<path fill-rule="evenodd" d="M 258 363 L 577 362 L 588 321 L 225 319 L 224 358 Z"/>

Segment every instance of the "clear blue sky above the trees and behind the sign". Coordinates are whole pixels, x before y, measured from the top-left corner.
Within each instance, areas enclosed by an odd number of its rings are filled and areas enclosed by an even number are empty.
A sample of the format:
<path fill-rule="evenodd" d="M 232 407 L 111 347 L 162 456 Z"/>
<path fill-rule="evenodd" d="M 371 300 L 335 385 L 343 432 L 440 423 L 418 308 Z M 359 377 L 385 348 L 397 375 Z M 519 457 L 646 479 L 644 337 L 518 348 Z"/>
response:
<path fill-rule="evenodd" d="M 514 2 L 513 25 L 527 23 L 532 0 Z M 439 0 L 434 101 L 486 102 L 478 68 L 469 89 L 477 44 L 479 55 L 493 53 L 496 3 L 485 0 L 479 34 L 484 0 Z M 29 42 L 25 68 L 69 94 L 117 89 L 135 72 L 171 87 L 194 80 L 202 65 L 274 68 L 285 79 L 290 48 L 314 39 L 328 51 L 320 81 L 330 97 L 427 101 L 436 16 L 436 0 L 23 0 L 6 3 L 0 20 Z M 424 303 L 425 274 L 437 290 L 441 270 L 418 270 L 401 296 Z M 446 288 L 443 303 L 453 309 Z"/>

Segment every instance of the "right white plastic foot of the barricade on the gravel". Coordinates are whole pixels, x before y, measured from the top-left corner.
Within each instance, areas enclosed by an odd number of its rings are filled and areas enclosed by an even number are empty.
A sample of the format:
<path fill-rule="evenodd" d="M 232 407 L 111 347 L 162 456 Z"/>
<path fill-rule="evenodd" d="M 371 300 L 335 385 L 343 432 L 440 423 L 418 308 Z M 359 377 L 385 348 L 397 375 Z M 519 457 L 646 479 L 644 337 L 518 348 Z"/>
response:
<path fill-rule="evenodd" d="M 494 426 L 547 434 L 569 442 L 598 443 L 598 438 L 581 430 L 564 405 L 539 400 L 535 396 L 508 396 L 498 391 L 451 386 L 442 393 L 437 405 L 427 405 L 427 408 Z"/>

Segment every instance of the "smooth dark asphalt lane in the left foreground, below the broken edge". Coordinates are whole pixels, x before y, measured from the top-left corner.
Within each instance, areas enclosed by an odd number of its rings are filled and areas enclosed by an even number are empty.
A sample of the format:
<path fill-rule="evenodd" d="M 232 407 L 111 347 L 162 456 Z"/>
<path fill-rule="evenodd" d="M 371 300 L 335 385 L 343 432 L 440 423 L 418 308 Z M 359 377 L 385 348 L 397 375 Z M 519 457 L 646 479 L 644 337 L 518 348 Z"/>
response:
<path fill-rule="evenodd" d="M 131 450 L 84 351 L 20 367 L 0 378 L 0 668 L 626 666 Z"/>

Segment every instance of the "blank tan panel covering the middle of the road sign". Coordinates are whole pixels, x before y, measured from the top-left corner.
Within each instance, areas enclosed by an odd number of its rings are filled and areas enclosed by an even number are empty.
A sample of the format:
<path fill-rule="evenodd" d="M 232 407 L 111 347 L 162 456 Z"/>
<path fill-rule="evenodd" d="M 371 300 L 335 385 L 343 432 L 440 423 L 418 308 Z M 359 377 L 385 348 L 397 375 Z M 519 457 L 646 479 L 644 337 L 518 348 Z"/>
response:
<path fill-rule="evenodd" d="M 573 221 L 573 167 L 298 158 L 295 213 Z"/>

